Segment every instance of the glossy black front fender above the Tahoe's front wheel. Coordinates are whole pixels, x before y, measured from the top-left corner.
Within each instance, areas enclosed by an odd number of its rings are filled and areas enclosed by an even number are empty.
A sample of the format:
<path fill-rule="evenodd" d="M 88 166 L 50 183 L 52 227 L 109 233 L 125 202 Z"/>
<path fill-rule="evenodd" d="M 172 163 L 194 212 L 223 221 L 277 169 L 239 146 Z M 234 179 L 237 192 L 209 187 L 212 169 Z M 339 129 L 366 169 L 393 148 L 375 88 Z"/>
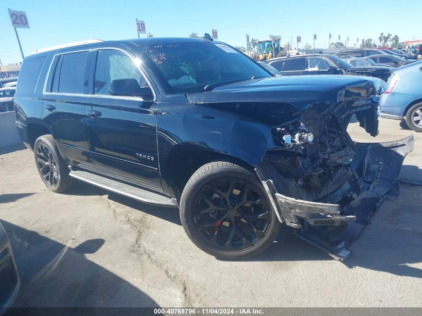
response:
<path fill-rule="evenodd" d="M 271 126 L 204 106 L 173 105 L 157 116 L 157 145 L 162 186 L 171 195 L 175 161 L 183 152 L 224 154 L 253 166 L 276 147 Z M 166 189 L 167 188 L 167 189 Z"/>

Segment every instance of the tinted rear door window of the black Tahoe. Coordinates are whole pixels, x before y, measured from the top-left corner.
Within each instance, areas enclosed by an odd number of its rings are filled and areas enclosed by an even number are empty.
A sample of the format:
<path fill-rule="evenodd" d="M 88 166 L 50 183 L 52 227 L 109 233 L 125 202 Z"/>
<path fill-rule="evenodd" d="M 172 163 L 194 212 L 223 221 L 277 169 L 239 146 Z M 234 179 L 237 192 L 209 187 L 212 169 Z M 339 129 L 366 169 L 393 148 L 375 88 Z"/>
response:
<path fill-rule="evenodd" d="M 88 51 L 63 54 L 59 57 L 52 75 L 51 92 L 83 93 Z M 85 82 L 86 81 L 86 82 Z"/>

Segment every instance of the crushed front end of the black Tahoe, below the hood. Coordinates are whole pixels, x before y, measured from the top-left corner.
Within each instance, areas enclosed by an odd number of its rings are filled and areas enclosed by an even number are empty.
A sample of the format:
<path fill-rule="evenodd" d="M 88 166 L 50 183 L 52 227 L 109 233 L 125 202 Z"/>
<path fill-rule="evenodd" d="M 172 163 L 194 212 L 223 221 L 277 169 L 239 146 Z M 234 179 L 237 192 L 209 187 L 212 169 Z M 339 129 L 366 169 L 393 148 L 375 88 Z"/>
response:
<path fill-rule="evenodd" d="M 345 88 L 338 102 L 310 104 L 272 129 L 277 147 L 256 172 L 281 222 L 338 260 L 388 198 L 399 195 L 403 160 L 413 136 L 386 143 L 355 143 L 347 133 L 353 115 L 378 134 L 377 91 L 370 83 Z"/>

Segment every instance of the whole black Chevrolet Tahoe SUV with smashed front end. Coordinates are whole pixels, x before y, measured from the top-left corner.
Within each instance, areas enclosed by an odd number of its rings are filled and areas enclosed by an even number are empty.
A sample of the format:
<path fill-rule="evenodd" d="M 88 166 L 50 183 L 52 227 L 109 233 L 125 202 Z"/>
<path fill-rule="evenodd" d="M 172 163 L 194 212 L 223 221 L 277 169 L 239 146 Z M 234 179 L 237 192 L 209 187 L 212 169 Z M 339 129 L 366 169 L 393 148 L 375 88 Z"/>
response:
<path fill-rule="evenodd" d="M 352 115 L 378 134 L 364 76 L 274 77 L 203 38 L 87 41 L 25 58 L 16 126 L 44 184 L 84 181 L 178 207 L 203 251 L 256 255 L 280 229 L 338 259 L 386 198 L 398 195 L 413 138 L 355 143 Z"/>

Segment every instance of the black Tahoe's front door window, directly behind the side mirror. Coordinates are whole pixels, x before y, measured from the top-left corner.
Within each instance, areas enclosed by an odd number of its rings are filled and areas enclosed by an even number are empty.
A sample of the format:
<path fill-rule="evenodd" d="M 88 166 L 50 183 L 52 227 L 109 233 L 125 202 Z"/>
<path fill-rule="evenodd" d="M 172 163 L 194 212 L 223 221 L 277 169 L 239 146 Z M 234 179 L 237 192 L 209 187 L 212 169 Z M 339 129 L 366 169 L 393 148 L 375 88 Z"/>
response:
<path fill-rule="evenodd" d="M 94 76 L 94 94 L 109 94 L 111 80 L 136 79 L 140 87 L 147 87 L 145 78 L 132 59 L 119 50 L 98 51 Z"/>

